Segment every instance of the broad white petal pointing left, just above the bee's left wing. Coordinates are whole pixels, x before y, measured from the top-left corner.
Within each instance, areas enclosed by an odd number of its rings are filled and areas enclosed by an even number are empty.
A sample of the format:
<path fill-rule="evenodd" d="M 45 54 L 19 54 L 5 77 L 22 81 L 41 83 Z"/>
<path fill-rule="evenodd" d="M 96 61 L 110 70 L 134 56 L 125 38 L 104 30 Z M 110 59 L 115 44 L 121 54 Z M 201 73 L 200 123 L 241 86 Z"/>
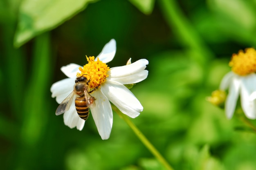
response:
<path fill-rule="evenodd" d="M 74 84 L 74 78 L 66 78 L 52 84 L 50 89 L 52 97 L 56 97 L 58 104 L 60 104 L 74 90 Z"/>

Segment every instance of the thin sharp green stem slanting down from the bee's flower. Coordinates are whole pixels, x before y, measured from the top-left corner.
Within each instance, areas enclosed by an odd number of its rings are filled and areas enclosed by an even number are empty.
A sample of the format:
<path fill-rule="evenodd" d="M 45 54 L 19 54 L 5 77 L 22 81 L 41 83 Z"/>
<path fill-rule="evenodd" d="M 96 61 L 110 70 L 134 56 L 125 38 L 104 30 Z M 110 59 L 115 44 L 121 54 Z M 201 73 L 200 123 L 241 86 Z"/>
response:
<path fill-rule="evenodd" d="M 122 118 L 124 121 L 130 126 L 135 135 L 139 138 L 139 140 L 148 148 L 148 150 L 158 159 L 160 163 L 166 168 L 166 170 L 174 170 L 169 163 L 164 159 L 164 157 L 158 152 L 158 150 L 148 141 L 148 139 L 143 135 L 143 133 L 135 126 L 135 124 L 130 121 L 130 119 L 121 113 L 121 111 L 113 104 L 111 104 L 112 109 Z"/>

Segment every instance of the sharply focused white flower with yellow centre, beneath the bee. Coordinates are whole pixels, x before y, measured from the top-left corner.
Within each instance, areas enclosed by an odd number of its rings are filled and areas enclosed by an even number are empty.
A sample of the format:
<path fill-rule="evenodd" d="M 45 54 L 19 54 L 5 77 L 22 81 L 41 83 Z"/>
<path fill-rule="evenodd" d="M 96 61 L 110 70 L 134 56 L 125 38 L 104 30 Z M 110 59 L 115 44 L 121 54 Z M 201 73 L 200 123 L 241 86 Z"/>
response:
<path fill-rule="evenodd" d="M 54 83 L 51 87 L 52 97 L 60 104 L 73 90 L 75 79 L 78 75 L 90 77 L 89 86 L 91 89 L 99 88 L 91 93 L 96 99 L 90 105 L 92 117 L 102 139 L 108 139 L 112 128 L 113 115 L 110 102 L 115 104 L 122 113 L 135 118 L 143 110 L 139 100 L 124 86 L 141 82 L 148 76 L 145 70 L 148 60 L 141 59 L 132 64 L 110 68 L 106 63 L 112 61 L 116 53 L 116 42 L 110 40 L 95 58 L 87 57 L 88 64 L 81 67 L 77 64 L 63 66 L 61 71 L 67 75 L 66 79 Z M 94 69 L 97 67 L 97 69 Z M 80 73 L 79 73 L 80 72 Z M 70 128 L 76 127 L 82 130 L 85 121 L 76 113 L 73 98 L 70 109 L 64 113 L 64 123 Z M 110 102 L 109 102 L 110 101 Z"/>

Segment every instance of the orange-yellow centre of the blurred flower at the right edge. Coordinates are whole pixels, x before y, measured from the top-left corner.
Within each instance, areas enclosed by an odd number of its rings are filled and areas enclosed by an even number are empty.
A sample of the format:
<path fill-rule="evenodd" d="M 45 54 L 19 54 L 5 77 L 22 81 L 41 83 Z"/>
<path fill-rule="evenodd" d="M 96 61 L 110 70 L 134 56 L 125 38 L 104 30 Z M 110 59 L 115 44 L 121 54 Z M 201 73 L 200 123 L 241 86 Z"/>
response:
<path fill-rule="evenodd" d="M 229 62 L 232 71 L 238 75 L 248 75 L 256 72 L 256 51 L 253 48 L 238 51 Z"/>

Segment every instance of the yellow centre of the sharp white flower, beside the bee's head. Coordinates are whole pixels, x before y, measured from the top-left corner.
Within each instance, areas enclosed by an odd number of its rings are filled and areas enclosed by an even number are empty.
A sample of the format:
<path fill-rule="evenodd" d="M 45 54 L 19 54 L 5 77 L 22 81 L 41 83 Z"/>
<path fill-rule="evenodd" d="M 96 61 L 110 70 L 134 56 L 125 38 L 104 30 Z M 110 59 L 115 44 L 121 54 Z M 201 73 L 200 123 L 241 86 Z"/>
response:
<path fill-rule="evenodd" d="M 86 56 L 86 59 L 88 61 L 88 64 L 85 64 L 83 68 L 79 67 L 81 73 L 77 73 L 76 76 L 84 76 L 88 80 L 90 80 L 90 82 L 88 82 L 88 85 L 91 91 L 106 82 L 106 78 L 108 77 L 107 73 L 110 69 L 108 65 L 101 62 L 99 58 L 97 59 L 97 61 L 94 61 L 94 56 Z"/>

